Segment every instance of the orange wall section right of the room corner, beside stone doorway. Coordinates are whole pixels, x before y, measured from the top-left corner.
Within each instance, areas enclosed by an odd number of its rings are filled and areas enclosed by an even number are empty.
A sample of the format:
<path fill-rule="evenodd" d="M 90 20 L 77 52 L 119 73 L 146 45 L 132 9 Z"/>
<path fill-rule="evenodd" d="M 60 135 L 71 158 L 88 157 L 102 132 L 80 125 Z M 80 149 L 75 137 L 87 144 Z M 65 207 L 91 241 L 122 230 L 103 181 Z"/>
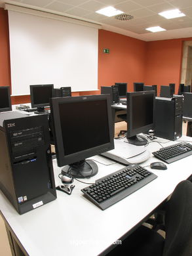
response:
<path fill-rule="evenodd" d="M 147 62 L 145 84 L 161 85 L 176 83 L 176 92 L 180 83 L 183 39 L 147 42 Z"/>

